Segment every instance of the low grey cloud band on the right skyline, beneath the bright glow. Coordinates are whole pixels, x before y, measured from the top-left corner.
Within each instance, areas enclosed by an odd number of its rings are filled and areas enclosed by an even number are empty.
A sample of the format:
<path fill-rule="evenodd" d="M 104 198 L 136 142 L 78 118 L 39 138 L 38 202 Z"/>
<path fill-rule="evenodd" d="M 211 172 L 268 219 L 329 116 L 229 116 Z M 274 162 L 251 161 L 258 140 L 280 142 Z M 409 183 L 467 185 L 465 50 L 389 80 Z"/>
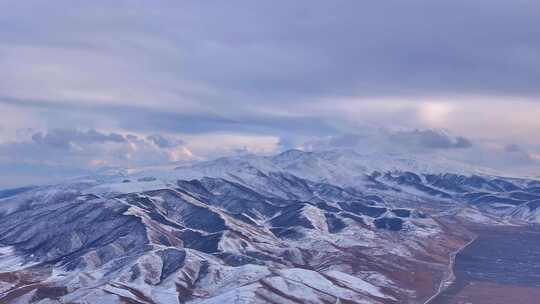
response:
<path fill-rule="evenodd" d="M 431 129 L 389 130 L 362 129 L 358 133 L 326 136 L 309 140 L 298 146 L 306 151 L 350 149 L 364 155 L 420 157 L 468 164 L 475 168 L 498 170 L 509 176 L 538 176 L 540 157 L 517 144 L 491 140 L 471 140 L 463 136 Z M 425 158 L 424 158 L 425 157 Z"/>

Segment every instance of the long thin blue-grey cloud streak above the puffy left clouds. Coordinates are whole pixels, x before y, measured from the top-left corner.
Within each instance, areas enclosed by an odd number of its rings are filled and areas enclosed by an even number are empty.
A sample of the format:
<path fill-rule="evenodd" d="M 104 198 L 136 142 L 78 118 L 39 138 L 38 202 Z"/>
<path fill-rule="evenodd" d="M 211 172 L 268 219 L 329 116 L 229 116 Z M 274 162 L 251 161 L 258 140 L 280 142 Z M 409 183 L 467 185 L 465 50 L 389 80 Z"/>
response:
<path fill-rule="evenodd" d="M 262 114 L 236 113 L 232 118 L 216 113 L 191 113 L 174 109 L 149 108 L 136 105 L 97 105 L 83 102 L 51 102 L 40 99 L 17 99 L 0 96 L 0 105 L 15 105 L 28 112 L 39 112 L 50 119 L 53 128 L 66 129 L 76 117 L 78 127 L 99 128 L 96 117 L 111 122 L 116 128 L 143 133 L 191 133 L 240 132 L 266 134 L 282 137 L 320 136 L 338 132 L 338 129 L 320 116 L 311 113 L 294 117 Z M 231 108 L 234 104 L 231 105 Z M 239 112 L 242 110 L 239 109 Z M 294 130 L 294 132 L 291 132 Z"/>

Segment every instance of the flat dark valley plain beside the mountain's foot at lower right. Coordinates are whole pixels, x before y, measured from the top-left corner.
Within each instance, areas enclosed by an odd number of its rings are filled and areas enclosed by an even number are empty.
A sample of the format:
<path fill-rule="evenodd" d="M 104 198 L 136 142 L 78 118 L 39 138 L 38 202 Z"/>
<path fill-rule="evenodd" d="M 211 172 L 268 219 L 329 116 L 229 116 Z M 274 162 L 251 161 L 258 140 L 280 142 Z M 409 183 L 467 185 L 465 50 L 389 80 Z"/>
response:
<path fill-rule="evenodd" d="M 456 255 L 455 281 L 428 304 L 535 303 L 540 296 L 538 227 L 471 230 L 477 237 Z"/>

